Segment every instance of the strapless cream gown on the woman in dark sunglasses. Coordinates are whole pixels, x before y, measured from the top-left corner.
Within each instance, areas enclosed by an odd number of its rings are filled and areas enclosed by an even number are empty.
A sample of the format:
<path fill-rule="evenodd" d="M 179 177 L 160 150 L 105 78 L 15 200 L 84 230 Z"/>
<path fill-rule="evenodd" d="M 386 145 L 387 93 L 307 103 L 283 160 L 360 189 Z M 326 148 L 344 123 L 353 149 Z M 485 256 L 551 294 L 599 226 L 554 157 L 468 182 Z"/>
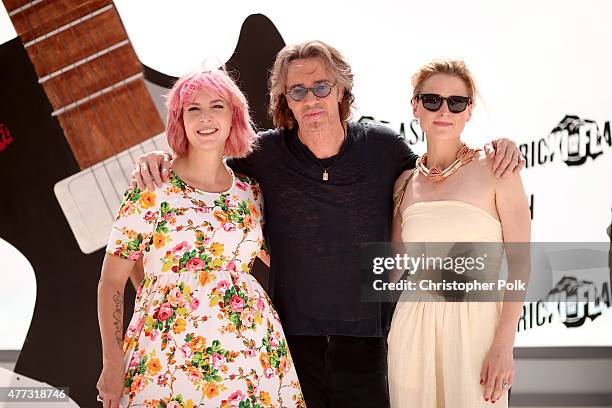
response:
<path fill-rule="evenodd" d="M 402 239 L 503 242 L 498 220 L 475 205 L 453 200 L 408 206 L 402 213 Z M 391 407 L 507 407 L 507 392 L 492 404 L 484 401 L 480 385 L 501 306 L 500 302 L 398 302 L 388 337 Z"/>

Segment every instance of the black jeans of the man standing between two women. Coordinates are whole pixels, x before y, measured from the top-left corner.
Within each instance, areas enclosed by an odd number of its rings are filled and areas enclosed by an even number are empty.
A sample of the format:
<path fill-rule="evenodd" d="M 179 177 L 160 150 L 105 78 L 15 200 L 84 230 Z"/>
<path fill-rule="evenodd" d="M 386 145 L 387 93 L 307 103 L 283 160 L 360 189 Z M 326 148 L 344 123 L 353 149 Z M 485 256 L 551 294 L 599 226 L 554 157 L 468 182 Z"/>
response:
<path fill-rule="evenodd" d="M 287 336 L 308 408 L 389 406 L 386 337 Z"/>

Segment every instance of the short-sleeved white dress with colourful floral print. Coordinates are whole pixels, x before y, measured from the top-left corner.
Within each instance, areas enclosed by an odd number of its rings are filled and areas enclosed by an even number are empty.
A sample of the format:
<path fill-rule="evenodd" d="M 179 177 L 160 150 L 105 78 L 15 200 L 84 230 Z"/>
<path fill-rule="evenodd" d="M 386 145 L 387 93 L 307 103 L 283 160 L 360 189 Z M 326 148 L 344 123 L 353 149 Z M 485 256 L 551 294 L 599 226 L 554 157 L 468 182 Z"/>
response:
<path fill-rule="evenodd" d="M 258 184 L 232 173 L 223 193 L 174 172 L 129 188 L 107 252 L 145 277 L 123 341 L 122 407 L 305 406 L 278 315 L 250 275 L 264 248 Z"/>

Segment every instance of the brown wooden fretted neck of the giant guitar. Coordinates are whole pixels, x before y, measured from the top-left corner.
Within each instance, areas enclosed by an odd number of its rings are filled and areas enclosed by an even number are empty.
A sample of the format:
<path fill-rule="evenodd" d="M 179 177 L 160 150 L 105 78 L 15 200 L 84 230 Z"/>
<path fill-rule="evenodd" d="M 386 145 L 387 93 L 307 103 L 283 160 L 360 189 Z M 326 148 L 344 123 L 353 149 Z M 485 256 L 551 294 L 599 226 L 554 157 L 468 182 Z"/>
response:
<path fill-rule="evenodd" d="M 3 0 L 81 169 L 164 130 L 109 0 Z"/>

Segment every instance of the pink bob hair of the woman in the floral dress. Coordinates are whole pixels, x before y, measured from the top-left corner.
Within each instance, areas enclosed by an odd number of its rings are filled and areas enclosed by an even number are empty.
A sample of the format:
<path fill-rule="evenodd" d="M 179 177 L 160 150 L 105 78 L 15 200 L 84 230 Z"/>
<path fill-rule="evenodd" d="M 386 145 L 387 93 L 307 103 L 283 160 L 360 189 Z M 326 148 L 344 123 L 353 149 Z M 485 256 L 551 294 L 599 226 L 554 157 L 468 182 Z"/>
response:
<path fill-rule="evenodd" d="M 249 114 L 249 104 L 238 85 L 226 72 L 219 69 L 180 77 L 166 96 L 166 137 L 174 154 L 182 156 L 187 153 L 189 140 L 185 134 L 183 108 L 191 103 L 200 91 L 210 92 L 224 100 L 232 110 L 232 129 L 225 141 L 223 154 L 231 157 L 244 157 L 249 154 L 257 139 Z"/>

